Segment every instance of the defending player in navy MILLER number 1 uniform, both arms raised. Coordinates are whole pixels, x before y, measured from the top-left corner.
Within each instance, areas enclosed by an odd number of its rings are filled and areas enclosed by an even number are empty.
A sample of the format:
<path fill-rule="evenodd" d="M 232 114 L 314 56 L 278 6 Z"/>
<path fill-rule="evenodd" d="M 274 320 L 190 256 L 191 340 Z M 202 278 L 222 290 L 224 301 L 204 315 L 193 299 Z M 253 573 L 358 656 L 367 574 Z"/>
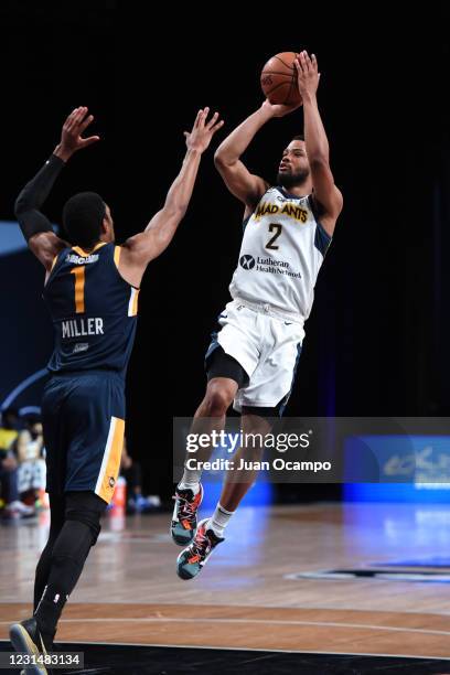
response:
<path fill-rule="evenodd" d="M 11 626 L 19 651 L 38 654 L 52 646 L 61 612 L 97 540 L 124 444 L 125 373 L 139 286 L 148 264 L 175 234 L 201 156 L 223 125 L 217 113 L 207 119 L 208 111 L 200 110 L 191 132 L 184 132 L 186 154 L 163 207 L 122 246 L 115 244 L 111 212 L 96 193 L 76 194 L 65 204 L 69 244 L 40 211 L 74 152 L 99 140 L 83 138 L 93 121 L 85 107 L 67 117 L 60 144 L 17 200 L 23 235 L 46 270 L 43 294 L 55 335 L 42 400 L 51 528 L 35 574 L 34 614 Z M 46 673 L 39 666 L 30 672 Z"/>

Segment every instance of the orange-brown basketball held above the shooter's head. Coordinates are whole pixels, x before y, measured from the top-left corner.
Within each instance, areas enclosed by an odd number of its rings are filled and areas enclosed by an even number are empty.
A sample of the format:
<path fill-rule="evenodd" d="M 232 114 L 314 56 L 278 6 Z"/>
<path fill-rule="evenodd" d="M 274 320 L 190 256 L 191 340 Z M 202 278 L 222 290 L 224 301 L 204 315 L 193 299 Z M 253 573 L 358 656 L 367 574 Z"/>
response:
<path fill-rule="evenodd" d="M 296 52 L 271 56 L 261 71 L 261 88 L 271 104 L 291 106 L 301 103 L 297 86 Z"/>

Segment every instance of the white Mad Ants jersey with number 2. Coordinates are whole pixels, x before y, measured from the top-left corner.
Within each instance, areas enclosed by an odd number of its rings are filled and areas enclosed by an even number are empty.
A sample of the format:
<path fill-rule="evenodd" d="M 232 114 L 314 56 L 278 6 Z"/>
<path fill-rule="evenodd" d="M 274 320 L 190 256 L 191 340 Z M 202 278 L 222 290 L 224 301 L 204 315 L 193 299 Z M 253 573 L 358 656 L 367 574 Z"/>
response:
<path fill-rule="evenodd" d="M 245 225 L 232 298 L 268 303 L 308 319 L 331 237 L 315 219 L 311 196 L 269 188 Z"/>

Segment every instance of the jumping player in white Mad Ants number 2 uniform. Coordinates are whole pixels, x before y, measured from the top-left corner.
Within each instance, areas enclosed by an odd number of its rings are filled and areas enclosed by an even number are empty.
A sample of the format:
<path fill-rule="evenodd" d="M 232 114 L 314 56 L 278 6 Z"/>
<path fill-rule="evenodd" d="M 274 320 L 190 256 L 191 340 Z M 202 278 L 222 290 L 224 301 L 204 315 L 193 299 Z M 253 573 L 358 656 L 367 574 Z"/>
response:
<path fill-rule="evenodd" d="M 296 137 L 283 150 L 277 185 L 251 174 L 239 158 L 267 121 L 298 106 L 266 100 L 215 153 L 226 186 L 245 206 L 245 229 L 229 287 L 233 301 L 219 315 L 219 331 L 206 353 L 206 395 L 192 433 L 223 428 L 234 401 L 244 433 L 264 436 L 270 430 L 267 418 L 282 414 L 292 387 L 313 288 L 342 210 L 318 108 L 315 56 L 302 52 L 296 68 L 304 137 Z M 212 517 L 197 524 L 203 494 L 200 462 L 210 456 L 211 447 L 197 451 L 197 463 L 190 456 L 175 491 L 171 532 L 173 540 L 185 546 L 176 568 L 182 579 L 195 577 L 224 540 L 225 526 L 255 480 L 250 470 L 240 476 L 237 469 L 229 471 Z M 238 467 L 240 458 L 260 457 L 261 448 L 242 448 L 233 459 Z"/>

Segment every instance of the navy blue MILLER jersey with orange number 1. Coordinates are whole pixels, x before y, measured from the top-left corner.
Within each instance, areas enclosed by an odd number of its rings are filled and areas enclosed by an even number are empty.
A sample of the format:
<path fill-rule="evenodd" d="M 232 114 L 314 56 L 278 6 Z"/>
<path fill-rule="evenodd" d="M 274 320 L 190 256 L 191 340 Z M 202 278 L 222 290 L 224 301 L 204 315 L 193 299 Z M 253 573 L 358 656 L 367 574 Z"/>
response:
<path fill-rule="evenodd" d="M 52 315 L 51 372 L 116 371 L 125 375 L 132 350 L 138 293 L 118 270 L 120 246 L 90 253 L 65 248 L 55 258 L 43 298 Z"/>

